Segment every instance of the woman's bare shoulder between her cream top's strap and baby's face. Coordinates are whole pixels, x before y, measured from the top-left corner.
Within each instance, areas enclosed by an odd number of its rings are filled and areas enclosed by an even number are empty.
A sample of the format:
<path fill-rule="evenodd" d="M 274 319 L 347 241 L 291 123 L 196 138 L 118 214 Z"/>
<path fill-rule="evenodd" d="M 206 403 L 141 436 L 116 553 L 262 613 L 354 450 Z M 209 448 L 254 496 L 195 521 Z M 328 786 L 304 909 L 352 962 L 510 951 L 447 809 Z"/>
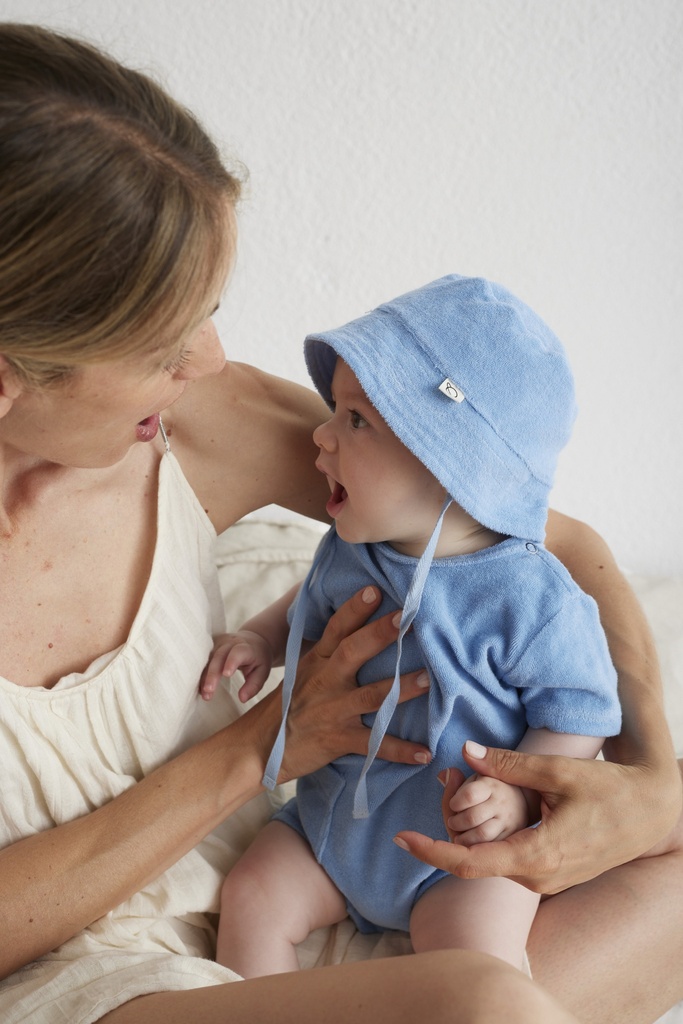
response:
<path fill-rule="evenodd" d="M 216 529 L 263 505 L 324 514 L 312 432 L 328 415 L 308 388 L 227 362 L 164 414 L 171 449 Z"/>

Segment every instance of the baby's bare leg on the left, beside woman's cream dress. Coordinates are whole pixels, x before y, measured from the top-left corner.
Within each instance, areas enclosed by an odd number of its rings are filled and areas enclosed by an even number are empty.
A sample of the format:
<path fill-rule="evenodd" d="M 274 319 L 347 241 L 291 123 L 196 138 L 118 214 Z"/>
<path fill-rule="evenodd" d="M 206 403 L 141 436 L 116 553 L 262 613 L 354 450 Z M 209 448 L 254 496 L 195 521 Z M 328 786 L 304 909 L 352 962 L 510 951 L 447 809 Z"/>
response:
<path fill-rule="evenodd" d="M 216 959 L 243 978 L 298 971 L 296 944 L 345 916 L 306 841 L 271 821 L 223 883 Z"/>

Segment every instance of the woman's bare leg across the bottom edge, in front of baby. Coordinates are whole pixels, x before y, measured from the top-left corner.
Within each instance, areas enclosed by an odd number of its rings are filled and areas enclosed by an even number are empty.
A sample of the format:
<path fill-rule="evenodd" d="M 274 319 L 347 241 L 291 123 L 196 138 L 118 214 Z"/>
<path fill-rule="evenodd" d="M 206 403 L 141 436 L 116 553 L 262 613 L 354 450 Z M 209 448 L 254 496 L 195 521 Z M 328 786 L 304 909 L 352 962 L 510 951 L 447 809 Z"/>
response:
<path fill-rule="evenodd" d="M 521 972 L 465 950 L 142 995 L 100 1024 L 578 1024 Z"/>

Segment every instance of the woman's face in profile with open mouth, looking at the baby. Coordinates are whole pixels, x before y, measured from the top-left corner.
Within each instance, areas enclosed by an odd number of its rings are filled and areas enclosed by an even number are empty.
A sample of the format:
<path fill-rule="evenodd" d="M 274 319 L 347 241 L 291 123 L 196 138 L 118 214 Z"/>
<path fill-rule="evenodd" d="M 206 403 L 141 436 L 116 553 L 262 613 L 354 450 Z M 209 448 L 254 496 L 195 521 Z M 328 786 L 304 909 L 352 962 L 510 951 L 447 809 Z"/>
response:
<path fill-rule="evenodd" d="M 152 440 L 159 414 L 188 382 L 219 373 L 225 355 L 209 317 L 169 359 L 160 352 L 78 369 L 63 384 L 23 391 L 0 420 L 0 438 L 19 453 L 78 468 L 112 466 Z"/>

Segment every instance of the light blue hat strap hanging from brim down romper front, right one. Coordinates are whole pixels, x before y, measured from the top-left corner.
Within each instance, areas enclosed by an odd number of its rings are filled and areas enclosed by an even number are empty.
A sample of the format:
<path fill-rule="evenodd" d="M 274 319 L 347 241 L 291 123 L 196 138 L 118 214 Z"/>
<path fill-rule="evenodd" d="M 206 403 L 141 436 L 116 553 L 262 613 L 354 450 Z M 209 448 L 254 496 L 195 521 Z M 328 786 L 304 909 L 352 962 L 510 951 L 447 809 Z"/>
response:
<path fill-rule="evenodd" d="M 408 588 L 408 594 L 405 595 L 403 610 L 400 616 L 400 625 L 398 627 L 398 639 L 396 641 L 396 669 L 393 676 L 393 682 L 391 684 L 391 689 L 382 701 L 375 717 L 375 721 L 373 722 L 373 728 L 370 733 L 370 741 L 368 743 L 368 756 L 366 757 L 366 763 L 362 766 L 360 777 L 358 778 L 358 783 L 355 787 L 355 794 L 353 796 L 354 818 L 367 818 L 370 814 L 366 775 L 368 774 L 373 761 L 377 757 L 380 744 L 389 727 L 391 716 L 398 705 L 398 697 L 400 696 L 400 655 L 403 646 L 403 637 L 408 633 L 411 623 L 418 613 L 420 602 L 422 600 L 422 592 L 425 589 L 425 583 L 427 582 L 427 573 L 431 567 L 434 552 L 436 551 L 436 545 L 441 532 L 441 526 L 443 525 L 443 516 L 452 503 L 453 499 L 450 496 L 446 496 L 443 508 L 441 509 L 439 517 L 436 520 L 436 525 L 432 530 L 432 536 L 429 538 L 427 547 L 420 556 L 420 560 L 418 561 L 415 572 L 413 573 L 411 586 Z"/>

